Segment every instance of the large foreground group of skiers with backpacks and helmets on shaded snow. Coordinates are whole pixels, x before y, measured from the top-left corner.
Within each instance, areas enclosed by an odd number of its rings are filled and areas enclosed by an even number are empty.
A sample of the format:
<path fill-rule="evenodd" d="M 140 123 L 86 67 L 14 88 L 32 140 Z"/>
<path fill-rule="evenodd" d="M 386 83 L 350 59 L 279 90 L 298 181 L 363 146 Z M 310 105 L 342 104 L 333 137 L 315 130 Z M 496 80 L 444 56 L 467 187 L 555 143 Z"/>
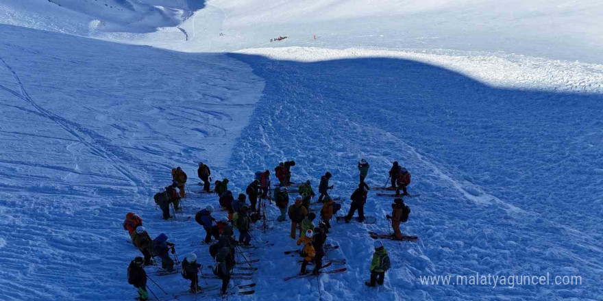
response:
<path fill-rule="evenodd" d="M 282 38 L 282 37 L 280 37 Z M 285 37 L 286 38 L 286 37 Z M 289 205 L 288 187 L 291 183 L 291 167 L 295 166 L 295 161 L 283 161 L 275 167 L 275 176 L 279 181 L 279 185 L 274 188 L 273 193 L 270 191 L 271 181 L 270 172 L 256 172 L 255 179 L 247 185 L 245 194 L 238 194 L 235 199 L 230 189 L 228 189 L 228 179 L 223 179 L 214 182 L 213 193 L 219 196 L 220 207 L 225 209 L 227 214 L 217 220 L 212 216 L 214 207 L 206 206 L 195 214 L 195 221 L 204 228 L 206 232 L 204 242 L 206 244 L 214 244 L 210 246 L 210 255 L 214 258 L 214 274 L 222 280 L 221 292 L 225 293 L 230 282 L 232 268 L 236 265 L 234 260 L 236 246 L 250 247 L 251 244 L 251 224 L 260 220 L 264 215 L 260 214 L 260 206 L 258 200 L 270 199 L 274 200 L 275 206 L 280 210 L 278 222 L 285 222 L 288 218 L 291 220 L 292 239 L 297 239 L 297 246 L 300 246 L 299 254 L 302 257 L 302 267 L 300 274 L 305 274 L 306 268 L 310 263 L 313 263 L 313 274 L 319 274 L 319 270 L 323 266 L 322 260 L 325 256 L 325 241 L 327 234 L 330 231 L 334 214 L 341 209 L 341 203 L 335 202 L 331 198 L 329 192 L 334 189 L 334 185 L 330 185 L 332 174 L 325 172 L 321 176 L 319 183 L 319 198 L 318 203 L 321 203 L 319 211 L 319 220 L 316 221 L 317 213 L 313 212 L 311 205 L 312 199 L 316 196 L 312 189 L 310 180 L 305 181 L 297 187 L 298 195 L 295 196 L 293 204 Z M 367 202 L 369 185 L 365 183 L 365 179 L 369 172 L 369 163 L 366 159 L 358 161 L 359 183 L 358 187 L 350 196 L 352 203 L 347 215 L 343 218 L 346 223 L 349 223 L 356 211 L 358 212 L 358 222 L 365 220 L 364 206 Z M 210 168 L 203 162 L 199 163 L 197 175 L 203 182 L 203 192 L 210 193 L 211 172 Z M 392 203 L 391 215 L 386 215 L 386 218 L 391 220 L 393 228 L 393 239 L 402 239 L 400 224 L 408 220 L 410 208 L 404 205 L 402 196 L 408 196 L 406 187 L 410 184 L 410 173 L 406 168 L 399 166 L 397 161 L 393 162 L 393 166 L 389 171 L 391 177 L 391 187 L 395 189 L 395 199 Z M 186 198 L 185 185 L 187 181 L 186 173 L 182 168 L 177 167 L 172 170 L 173 182 L 165 187 L 164 192 L 160 192 L 154 196 L 154 199 L 162 210 L 164 220 L 172 218 L 170 215 L 170 207 L 177 211 L 180 207 L 180 200 Z M 199 183 L 201 184 L 201 183 Z M 179 192 L 176 191 L 179 189 Z M 400 194 L 402 190 L 402 194 Z M 247 205 L 246 199 L 249 198 L 250 204 Z M 317 223 L 317 224 L 315 224 Z M 132 239 L 132 243 L 140 252 L 142 257 L 136 257 L 128 267 L 128 281 L 138 289 L 139 299 L 142 301 L 148 300 L 149 295 L 146 289 L 147 276 L 143 267 L 145 265 L 156 264 L 153 259 L 160 258 L 162 270 L 173 272 L 174 261 L 170 257 L 170 252 L 175 254 L 175 244 L 167 241 L 168 237 L 164 233 L 160 233 L 155 239 L 151 239 L 143 226 L 142 218 L 130 212 L 127 213 L 123 228 L 128 231 Z M 239 232 L 238 240 L 234 239 L 234 228 Z M 299 236 L 298 236 L 299 233 Z M 299 238 L 298 238 L 299 237 Z M 212 239 L 213 238 L 213 239 Z M 382 241 L 375 241 L 375 250 L 373 260 L 371 261 L 371 278 L 367 281 L 367 285 L 376 286 L 382 285 L 384 280 L 384 272 L 391 267 L 389 255 L 385 250 Z M 177 257 L 175 257 L 177 260 Z M 195 253 L 188 254 L 182 261 L 182 276 L 190 280 L 190 291 L 197 293 L 201 291 L 198 285 L 199 268 L 201 265 L 197 263 Z"/>

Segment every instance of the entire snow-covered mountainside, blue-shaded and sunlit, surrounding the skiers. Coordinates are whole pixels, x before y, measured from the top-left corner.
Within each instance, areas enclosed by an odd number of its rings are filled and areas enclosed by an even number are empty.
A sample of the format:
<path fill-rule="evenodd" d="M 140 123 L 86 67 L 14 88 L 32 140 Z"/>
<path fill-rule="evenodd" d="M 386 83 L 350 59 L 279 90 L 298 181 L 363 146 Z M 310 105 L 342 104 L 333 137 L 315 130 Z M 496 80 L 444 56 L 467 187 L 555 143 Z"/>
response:
<path fill-rule="evenodd" d="M 256 293 L 231 299 L 601 300 L 601 14 L 599 1 L 561 0 L 2 1 L 0 300 L 133 300 L 129 211 L 211 273 L 190 218 L 218 207 L 197 193 L 199 161 L 235 195 L 279 161 L 315 191 L 330 171 L 343 215 L 360 158 L 371 187 L 399 161 L 420 194 L 402 225 L 419 240 L 384 241 L 384 287 L 363 285 L 367 231 L 391 231 L 392 198 L 373 189 L 365 215 L 378 222 L 333 221 L 327 257 L 347 272 L 319 278 L 283 281 L 299 272 L 283 251 L 298 247 L 267 206 L 273 229 L 252 243 L 275 246 L 245 253 L 259 270 L 233 283 Z M 164 221 L 152 196 L 176 166 L 189 197 Z M 476 273 L 582 283 L 419 280 Z M 153 280 L 160 300 L 197 299 L 178 296 L 179 274 Z"/>

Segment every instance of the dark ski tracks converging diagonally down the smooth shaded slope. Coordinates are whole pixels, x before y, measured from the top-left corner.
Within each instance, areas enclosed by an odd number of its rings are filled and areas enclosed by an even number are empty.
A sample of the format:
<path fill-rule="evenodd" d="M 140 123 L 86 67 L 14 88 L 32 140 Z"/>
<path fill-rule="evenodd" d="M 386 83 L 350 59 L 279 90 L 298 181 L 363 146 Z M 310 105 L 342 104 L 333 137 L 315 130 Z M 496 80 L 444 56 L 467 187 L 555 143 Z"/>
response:
<path fill-rule="evenodd" d="M 23 83 L 21 82 L 21 79 L 19 79 L 19 75 L 16 74 L 14 69 L 11 68 L 11 66 L 9 64 L 7 64 L 6 61 L 2 57 L 0 57 L 0 61 L 2 62 L 2 64 L 4 64 L 5 68 L 8 71 L 10 71 L 10 73 L 12 73 L 12 77 L 14 78 L 16 83 L 19 85 L 19 90 L 21 90 L 21 93 L 16 92 L 14 90 L 11 90 L 11 89 L 6 88 L 1 85 L 0 85 L 0 88 L 2 88 L 3 90 L 6 90 L 8 92 L 11 92 L 15 96 L 22 99 L 23 101 L 26 101 L 27 103 L 32 105 L 35 109 L 38 110 L 38 112 L 40 112 L 40 114 L 42 114 L 42 116 L 45 116 L 46 118 L 50 119 L 52 122 L 56 123 L 56 125 L 58 125 L 62 129 L 64 129 L 65 131 L 67 131 L 68 133 L 73 135 L 73 137 L 76 138 L 79 142 L 81 142 L 82 144 L 87 146 L 92 151 L 92 153 L 109 161 L 109 163 L 113 166 L 113 168 L 115 168 L 121 174 L 123 174 L 123 176 L 125 176 L 130 181 L 130 183 L 132 183 L 132 185 L 134 185 L 134 187 L 136 187 L 136 189 L 140 189 L 140 187 L 138 186 L 138 183 L 140 183 L 140 181 L 138 179 L 136 179 L 136 177 L 134 175 L 132 175 L 130 172 L 128 172 L 125 168 L 121 167 L 117 163 L 118 159 L 116 159 L 116 156 L 110 150 L 105 150 L 101 147 L 94 146 L 92 143 L 90 143 L 86 139 L 84 139 L 83 135 L 78 133 L 78 131 L 82 132 L 82 133 L 86 133 L 86 131 L 88 131 L 91 134 L 94 134 L 94 135 L 97 135 L 97 134 L 95 134 L 93 131 L 90 131 L 88 129 L 84 130 L 84 129 L 82 129 L 81 125 L 78 125 L 75 122 L 66 120 L 65 118 L 62 118 L 56 114 L 53 114 L 52 112 L 48 111 L 47 109 L 40 107 L 40 105 L 38 105 L 32 99 L 32 97 L 29 96 L 29 94 L 27 93 L 27 90 L 25 90 L 25 87 L 23 87 Z M 70 125 L 75 127 L 77 130 L 72 129 L 70 127 Z M 94 142 L 94 138 L 90 137 L 90 135 L 88 135 L 88 140 L 93 140 L 93 142 Z"/>

